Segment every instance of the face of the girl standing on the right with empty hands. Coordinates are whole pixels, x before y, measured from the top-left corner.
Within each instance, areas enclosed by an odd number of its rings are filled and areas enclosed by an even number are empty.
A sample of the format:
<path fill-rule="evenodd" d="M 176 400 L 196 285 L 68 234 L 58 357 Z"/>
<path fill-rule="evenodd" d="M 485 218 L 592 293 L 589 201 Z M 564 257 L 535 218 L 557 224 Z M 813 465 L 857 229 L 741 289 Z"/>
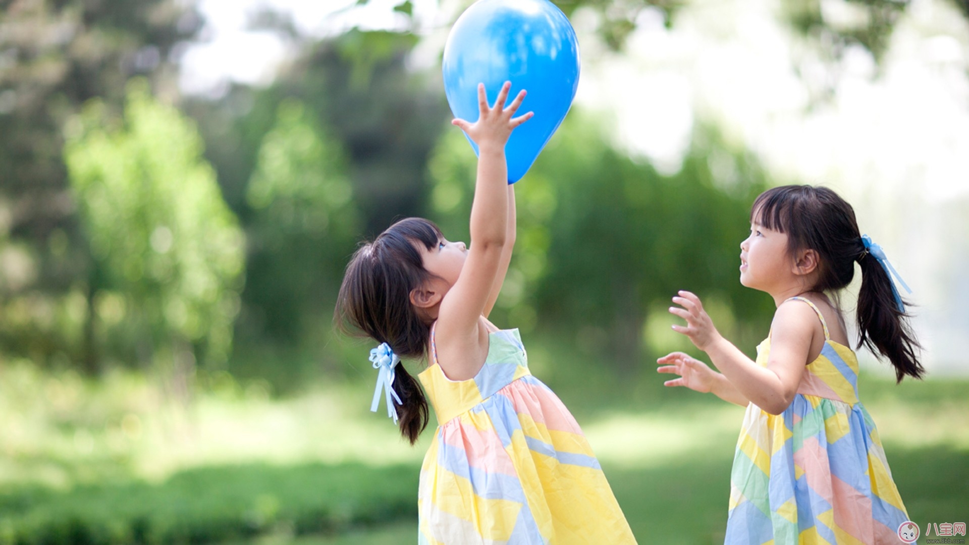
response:
<path fill-rule="evenodd" d="M 788 236 L 750 224 L 750 236 L 740 242 L 740 283 L 748 288 L 771 292 L 792 274 Z"/>

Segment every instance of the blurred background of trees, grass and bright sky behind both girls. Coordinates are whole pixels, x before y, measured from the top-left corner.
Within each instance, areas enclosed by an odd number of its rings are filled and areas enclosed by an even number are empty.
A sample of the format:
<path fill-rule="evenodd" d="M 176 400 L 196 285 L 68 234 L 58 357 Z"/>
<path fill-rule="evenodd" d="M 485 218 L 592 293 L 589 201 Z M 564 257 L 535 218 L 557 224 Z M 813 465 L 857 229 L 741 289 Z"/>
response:
<path fill-rule="evenodd" d="M 738 245 L 784 183 L 841 193 L 915 290 L 929 376 L 863 357 L 861 399 L 912 520 L 966 522 L 969 5 L 555 3 L 578 96 L 516 184 L 492 321 L 638 539 L 723 541 L 743 409 L 654 362 L 700 355 L 677 289 L 746 352 L 766 337 Z M 332 310 L 394 218 L 467 240 L 440 59 L 469 4 L 0 2 L 0 543 L 416 540 L 431 433 L 367 410 L 372 346 Z"/>

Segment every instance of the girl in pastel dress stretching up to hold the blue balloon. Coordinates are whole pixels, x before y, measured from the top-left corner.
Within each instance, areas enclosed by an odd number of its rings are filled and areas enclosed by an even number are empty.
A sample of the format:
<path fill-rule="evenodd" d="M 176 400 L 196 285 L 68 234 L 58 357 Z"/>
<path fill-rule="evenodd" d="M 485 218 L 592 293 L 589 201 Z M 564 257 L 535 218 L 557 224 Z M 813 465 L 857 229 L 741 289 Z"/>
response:
<path fill-rule="evenodd" d="M 524 91 L 505 108 L 510 86 L 489 107 L 479 85 L 478 121 L 453 121 L 479 146 L 472 245 L 425 219 L 394 223 L 347 266 L 337 318 L 381 343 L 371 410 L 384 389 L 411 443 L 427 401 L 397 363 L 428 357 L 418 379 L 440 426 L 421 469 L 420 543 L 635 543 L 576 420 L 528 371 L 517 330 L 487 320 L 515 241 L 505 144 L 531 116 L 514 117 Z"/>

